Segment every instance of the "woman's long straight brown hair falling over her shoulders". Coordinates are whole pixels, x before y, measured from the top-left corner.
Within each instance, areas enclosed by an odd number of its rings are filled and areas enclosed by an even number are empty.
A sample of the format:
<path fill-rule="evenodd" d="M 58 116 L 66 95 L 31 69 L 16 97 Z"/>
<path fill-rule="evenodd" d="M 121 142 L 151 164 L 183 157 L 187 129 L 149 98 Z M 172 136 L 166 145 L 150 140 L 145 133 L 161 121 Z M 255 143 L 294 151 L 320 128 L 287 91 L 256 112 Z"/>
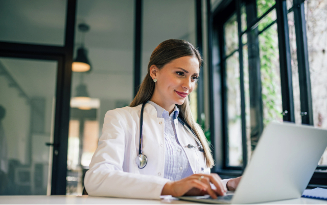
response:
<path fill-rule="evenodd" d="M 188 41 L 169 39 L 160 43 L 151 54 L 150 61 L 148 64 L 148 73 L 145 76 L 142 84 L 140 85 L 135 98 L 129 106 L 135 107 L 151 99 L 155 86 L 155 83 L 153 82 L 153 79 L 150 76 L 150 67 L 152 65 L 155 65 L 160 70 L 166 64 L 183 56 L 196 56 L 199 60 L 199 65 L 201 66 L 201 54 Z M 200 140 L 204 149 L 206 165 L 210 168 L 213 167 L 214 159 L 211 150 L 209 149 L 208 141 L 205 138 L 202 128 L 193 119 L 189 99 L 186 98 L 184 103 L 181 105 L 177 105 L 177 107 L 179 108 L 178 115 L 180 116 L 180 118 L 182 118 L 192 128 L 192 130 L 195 132 L 196 136 Z"/>

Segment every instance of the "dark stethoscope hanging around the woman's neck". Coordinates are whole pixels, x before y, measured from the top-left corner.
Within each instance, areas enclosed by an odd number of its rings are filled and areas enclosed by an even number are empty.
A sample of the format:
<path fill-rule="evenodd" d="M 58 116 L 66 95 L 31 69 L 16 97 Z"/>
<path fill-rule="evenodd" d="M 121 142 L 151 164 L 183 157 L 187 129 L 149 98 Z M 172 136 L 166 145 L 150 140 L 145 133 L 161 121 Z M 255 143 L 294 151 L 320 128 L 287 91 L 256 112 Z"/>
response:
<path fill-rule="evenodd" d="M 147 104 L 147 103 L 146 102 L 143 103 L 142 108 L 141 108 L 141 118 L 139 120 L 139 127 L 140 127 L 139 128 L 139 136 L 140 137 L 139 137 L 139 145 L 138 145 L 138 156 L 135 159 L 135 162 L 136 162 L 138 168 L 140 168 L 140 169 L 143 169 L 147 165 L 147 163 L 148 163 L 147 156 L 145 156 L 145 155 L 142 154 L 142 142 L 143 142 L 143 111 L 144 111 L 145 104 Z M 192 130 L 192 128 L 188 124 L 186 124 L 186 122 L 183 119 L 179 118 L 179 116 L 177 118 L 178 118 L 178 121 L 186 128 L 186 130 L 188 130 L 192 134 L 192 136 L 194 137 L 194 139 L 196 140 L 196 142 L 199 144 L 199 146 L 197 146 L 197 147 L 194 147 L 192 144 L 188 144 L 187 148 L 190 148 L 190 149 L 192 149 L 192 148 L 200 148 L 199 149 L 200 152 L 204 152 L 203 147 L 202 147 L 202 144 L 199 141 L 199 139 L 195 136 L 195 133 Z"/>

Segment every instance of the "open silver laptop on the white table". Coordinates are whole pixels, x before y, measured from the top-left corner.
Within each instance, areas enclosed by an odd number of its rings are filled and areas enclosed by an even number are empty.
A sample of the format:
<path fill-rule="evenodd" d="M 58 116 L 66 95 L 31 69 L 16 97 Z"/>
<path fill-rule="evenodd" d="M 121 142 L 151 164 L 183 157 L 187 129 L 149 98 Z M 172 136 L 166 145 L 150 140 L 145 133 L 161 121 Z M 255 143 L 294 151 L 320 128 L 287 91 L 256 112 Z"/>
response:
<path fill-rule="evenodd" d="M 216 204 L 260 203 L 301 197 L 327 147 L 327 130 L 292 123 L 270 123 L 256 146 L 235 193 L 217 199 L 181 200 Z"/>

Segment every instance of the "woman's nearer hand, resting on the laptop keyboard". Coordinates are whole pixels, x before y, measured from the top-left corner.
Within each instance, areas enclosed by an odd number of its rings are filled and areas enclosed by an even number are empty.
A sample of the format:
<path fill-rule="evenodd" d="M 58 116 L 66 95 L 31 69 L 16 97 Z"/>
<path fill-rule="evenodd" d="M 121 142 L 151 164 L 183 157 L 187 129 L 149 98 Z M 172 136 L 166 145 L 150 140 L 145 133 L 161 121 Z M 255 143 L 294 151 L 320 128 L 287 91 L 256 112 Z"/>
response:
<path fill-rule="evenodd" d="M 216 189 L 212 189 L 210 183 L 213 183 Z M 167 182 L 161 191 L 161 195 L 204 195 L 209 194 L 212 198 L 217 195 L 223 196 L 227 189 L 221 182 L 218 174 L 192 174 L 182 180 Z"/>

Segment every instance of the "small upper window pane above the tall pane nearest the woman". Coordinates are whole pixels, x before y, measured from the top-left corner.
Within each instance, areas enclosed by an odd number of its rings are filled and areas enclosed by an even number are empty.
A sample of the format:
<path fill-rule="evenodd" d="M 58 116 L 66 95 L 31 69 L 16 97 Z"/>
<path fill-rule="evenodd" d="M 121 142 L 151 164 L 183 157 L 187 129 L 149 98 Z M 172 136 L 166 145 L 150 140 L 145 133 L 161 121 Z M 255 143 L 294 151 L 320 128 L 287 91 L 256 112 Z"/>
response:
<path fill-rule="evenodd" d="M 236 14 L 232 15 L 224 24 L 225 55 L 229 55 L 239 47 L 239 37 Z"/>

